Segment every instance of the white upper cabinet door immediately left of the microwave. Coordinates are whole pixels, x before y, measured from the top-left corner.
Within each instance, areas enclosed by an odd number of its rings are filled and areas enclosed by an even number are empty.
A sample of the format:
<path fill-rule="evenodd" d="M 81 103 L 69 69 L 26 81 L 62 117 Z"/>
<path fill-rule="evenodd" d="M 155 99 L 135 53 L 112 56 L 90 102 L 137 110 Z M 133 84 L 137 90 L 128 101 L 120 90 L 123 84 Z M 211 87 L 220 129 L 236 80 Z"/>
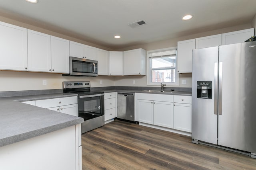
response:
<path fill-rule="evenodd" d="M 52 72 L 69 73 L 69 41 L 51 36 Z"/>

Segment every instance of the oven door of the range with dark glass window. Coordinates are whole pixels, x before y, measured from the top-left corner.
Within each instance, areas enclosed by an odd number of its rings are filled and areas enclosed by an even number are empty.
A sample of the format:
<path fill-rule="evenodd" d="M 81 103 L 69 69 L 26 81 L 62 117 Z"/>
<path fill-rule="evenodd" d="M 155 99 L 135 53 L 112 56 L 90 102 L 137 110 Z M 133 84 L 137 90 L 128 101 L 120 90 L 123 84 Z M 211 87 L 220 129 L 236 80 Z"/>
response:
<path fill-rule="evenodd" d="M 104 93 L 78 96 L 78 116 L 84 121 L 104 115 Z"/>

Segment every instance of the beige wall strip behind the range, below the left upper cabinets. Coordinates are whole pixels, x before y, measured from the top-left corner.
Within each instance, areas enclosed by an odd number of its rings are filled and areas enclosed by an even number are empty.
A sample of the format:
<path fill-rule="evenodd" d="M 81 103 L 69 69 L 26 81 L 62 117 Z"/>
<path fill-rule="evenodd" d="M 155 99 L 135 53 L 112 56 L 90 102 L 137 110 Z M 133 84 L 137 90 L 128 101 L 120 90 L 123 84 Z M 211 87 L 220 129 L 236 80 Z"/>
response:
<path fill-rule="evenodd" d="M 43 80 L 47 85 L 42 85 Z M 69 77 L 57 73 L 0 70 L 0 92 L 62 89 L 63 81 L 90 81 L 91 87 L 114 86 L 114 77 L 109 76 Z"/>

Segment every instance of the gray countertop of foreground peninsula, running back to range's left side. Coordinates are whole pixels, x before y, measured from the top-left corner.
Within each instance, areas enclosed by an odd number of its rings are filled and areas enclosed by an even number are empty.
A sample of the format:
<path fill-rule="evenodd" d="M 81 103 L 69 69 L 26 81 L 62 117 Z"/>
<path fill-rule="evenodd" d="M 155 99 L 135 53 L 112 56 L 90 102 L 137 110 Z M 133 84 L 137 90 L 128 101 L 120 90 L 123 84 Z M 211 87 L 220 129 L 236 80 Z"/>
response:
<path fill-rule="evenodd" d="M 45 94 L 0 98 L 0 147 L 84 122 L 76 117 L 21 103 L 76 94 Z"/>

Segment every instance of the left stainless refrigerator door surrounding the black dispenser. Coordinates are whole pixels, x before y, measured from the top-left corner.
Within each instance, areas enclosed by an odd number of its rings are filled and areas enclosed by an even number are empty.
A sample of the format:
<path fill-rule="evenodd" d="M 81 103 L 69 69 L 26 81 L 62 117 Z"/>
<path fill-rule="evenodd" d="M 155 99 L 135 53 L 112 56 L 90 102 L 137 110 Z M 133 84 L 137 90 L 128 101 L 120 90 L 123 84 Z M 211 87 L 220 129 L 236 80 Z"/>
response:
<path fill-rule="evenodd" d="M 218 47 L 193 50 L 192 139 L 213 144 L 217 144 L 217 73 Z M 197 98 L 197 81 L 212 81 L 212 99 Z"/>

